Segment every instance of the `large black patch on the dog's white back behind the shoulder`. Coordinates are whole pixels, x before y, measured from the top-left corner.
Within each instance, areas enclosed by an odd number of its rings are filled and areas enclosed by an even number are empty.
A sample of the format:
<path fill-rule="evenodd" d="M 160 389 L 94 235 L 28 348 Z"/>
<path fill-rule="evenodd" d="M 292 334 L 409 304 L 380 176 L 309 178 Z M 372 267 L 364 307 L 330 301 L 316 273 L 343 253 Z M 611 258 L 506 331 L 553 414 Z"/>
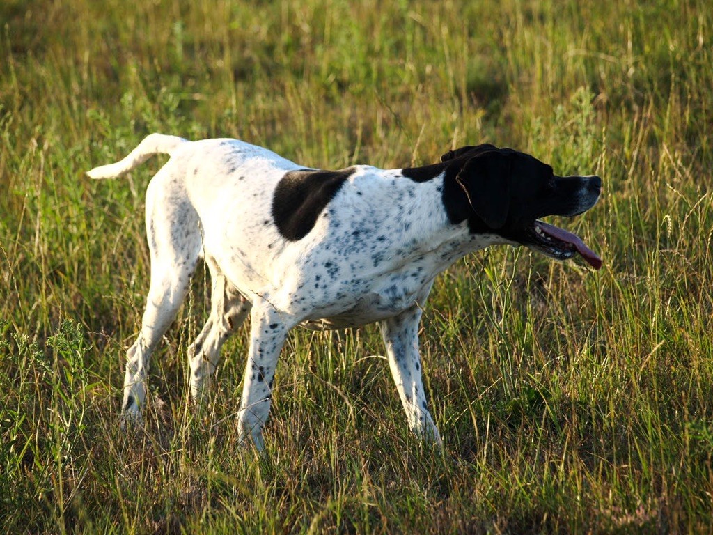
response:
<path fill-rule="evenodd" d="M 290 241 L 302 240 L 352 174 L 352 167 L 338 171 L 299 170 L 286 173 L 277 183 L 272 198 L 272 218 L 279 233 Z"/>

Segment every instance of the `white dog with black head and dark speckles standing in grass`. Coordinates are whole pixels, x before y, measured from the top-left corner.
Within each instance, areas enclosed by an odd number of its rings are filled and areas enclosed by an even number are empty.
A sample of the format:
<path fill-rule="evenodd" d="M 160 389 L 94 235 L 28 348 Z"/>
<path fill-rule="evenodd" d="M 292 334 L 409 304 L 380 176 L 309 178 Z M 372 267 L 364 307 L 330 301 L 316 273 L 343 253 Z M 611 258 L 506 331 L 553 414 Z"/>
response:
<path fill-rule="evenodd" d="M 88 176 L 115 178 L 160 153 L 170 159 L 146 191 L 151 280 L 140 334 L 127 352 L 125 419 L 140 421 L 150 356 L 201 259 L 212 280 L 210 316 L 188 348 L 190 392 L 200 401 L 223 343 L 250 315 L 237 420 L 241 442 L 257 449 L 277 357 L 293 327 L 379 322 L 409 428 L 441 445 L 419 356 L 421 312 L 436 275 L 493 244 L 602 264 L 576 235 L 540 220 L 592 208 L 601 179 L 560 177 L 511 148 L 466 146 L 422 167 L 331 171 L 234 139 L 153 133 Z"/>

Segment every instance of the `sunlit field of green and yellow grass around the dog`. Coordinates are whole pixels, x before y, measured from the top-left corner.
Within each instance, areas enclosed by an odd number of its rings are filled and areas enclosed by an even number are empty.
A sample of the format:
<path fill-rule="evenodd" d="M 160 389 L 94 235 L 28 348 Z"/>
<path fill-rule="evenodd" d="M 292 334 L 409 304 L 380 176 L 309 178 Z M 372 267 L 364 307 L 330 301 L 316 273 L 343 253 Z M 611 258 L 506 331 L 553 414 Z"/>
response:
<path fill-rule="evenodd" d="M 713 10 L 703 0 L 0 4 L 5 533 L 704 533 L 713 525 Z M 443 451 L 411 436 L 376 327 L 295 331 L 266 451 L 237 445 L 246 327 L 188 402 L 200 270 L 118 426 L 148 289 L 143 197 L 84 172 L 146 134 L 319 168 L 483 142 L 595 173 L 605 261 L 491 248 L 421 332 Z"/>

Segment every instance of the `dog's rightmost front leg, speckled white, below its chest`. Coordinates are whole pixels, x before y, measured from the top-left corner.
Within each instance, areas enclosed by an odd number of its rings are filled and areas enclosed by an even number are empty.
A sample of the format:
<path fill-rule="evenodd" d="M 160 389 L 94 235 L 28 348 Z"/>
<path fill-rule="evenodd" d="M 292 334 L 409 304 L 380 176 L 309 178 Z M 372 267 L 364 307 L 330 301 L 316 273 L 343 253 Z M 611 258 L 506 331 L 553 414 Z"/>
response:
<path fill-rule="evenodd" d="M 426 392 L 421 380 L 421 357 L 419 355 L 419 322 L 421 309 L 411 307 L 401 314 L 380 323 L 384 337 L 389 367 L 399 390 L 401 403 L 412 431 L 424 439 L 442 446 L 441 435 L 434 424 L 426 403 Z"/>

